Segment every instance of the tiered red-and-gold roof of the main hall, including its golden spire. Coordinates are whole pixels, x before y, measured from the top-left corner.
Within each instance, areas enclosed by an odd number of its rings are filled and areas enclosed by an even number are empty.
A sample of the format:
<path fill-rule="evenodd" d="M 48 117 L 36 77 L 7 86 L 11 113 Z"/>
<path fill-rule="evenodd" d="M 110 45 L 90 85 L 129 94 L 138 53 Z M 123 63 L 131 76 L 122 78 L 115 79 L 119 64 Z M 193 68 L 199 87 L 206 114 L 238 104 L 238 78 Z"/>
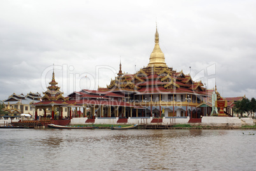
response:
<path fill-rule="evenodd" d="M 201 81 L 193 81 L 183 71 L 176 72 L 167 67 L 164 53 L 159 46 L 159 33 L 155 32 L 155 47 L 150 55 L 150 62 L 135 74 L 123 74 L 121 64 L 115 79 L 111 79 L 106 88 L 99 91 L 130 91 L 138 94 L 147 93 L 195 93 L 206 95 L 206 88 Z M 210 92 L 207 92 L 209 94 Z"/>

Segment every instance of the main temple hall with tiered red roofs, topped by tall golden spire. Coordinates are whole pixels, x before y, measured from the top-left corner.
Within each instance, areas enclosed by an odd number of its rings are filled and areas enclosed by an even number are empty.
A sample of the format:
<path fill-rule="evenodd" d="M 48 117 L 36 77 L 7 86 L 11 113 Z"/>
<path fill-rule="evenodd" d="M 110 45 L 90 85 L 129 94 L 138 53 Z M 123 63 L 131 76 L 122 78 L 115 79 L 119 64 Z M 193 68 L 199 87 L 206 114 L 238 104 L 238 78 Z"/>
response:
<path fill-rule="evenodd" d="M 199 105 L 213 92 L 206 90 L 201 81 L 193 81 L 189 74 L 176 72 L 167 66 L 159 46 L 157 29 L 148 65 L 135 74 L 124 74 L 120 63 L 117 77 L 111 79 L 106 88 L 99 88 L 98 91 L 124 95 L 125 102 L 145 109 L 145 113 L 139 116 L 190 118 L 206 116 L 204 107 Z M 210 113 L 209 110 L 207 114 Z"/>

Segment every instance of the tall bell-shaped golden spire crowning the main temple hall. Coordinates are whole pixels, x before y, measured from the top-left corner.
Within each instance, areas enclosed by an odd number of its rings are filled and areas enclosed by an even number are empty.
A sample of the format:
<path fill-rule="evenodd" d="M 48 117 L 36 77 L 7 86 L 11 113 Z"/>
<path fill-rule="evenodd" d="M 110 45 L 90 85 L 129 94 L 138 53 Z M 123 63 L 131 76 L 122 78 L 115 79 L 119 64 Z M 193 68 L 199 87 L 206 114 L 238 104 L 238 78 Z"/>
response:
<path fill-rule="evenodd" d="M 160 49 L 159 46 L 159 33 L 157 32 L 157 26 L 155 31 L 155 47 L 153 48 L 153 51 L 150 55 L 150 62 L 148 63 L 148 67 L 153 66 L 167 67 L 164 58 L 164 53 L 162 53 L 162 50 Z"/>

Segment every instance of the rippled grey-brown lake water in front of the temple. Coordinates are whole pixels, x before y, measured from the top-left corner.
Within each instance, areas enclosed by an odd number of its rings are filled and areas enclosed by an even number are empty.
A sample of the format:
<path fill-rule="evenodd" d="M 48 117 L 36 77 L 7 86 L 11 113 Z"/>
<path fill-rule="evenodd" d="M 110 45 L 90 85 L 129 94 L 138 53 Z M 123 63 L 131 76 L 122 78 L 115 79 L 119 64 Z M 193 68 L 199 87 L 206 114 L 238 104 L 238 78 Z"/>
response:
<path fill-rule="evenodd" d="M 249 132 L 1 129 L 0 170 L 256 170 Z"/>

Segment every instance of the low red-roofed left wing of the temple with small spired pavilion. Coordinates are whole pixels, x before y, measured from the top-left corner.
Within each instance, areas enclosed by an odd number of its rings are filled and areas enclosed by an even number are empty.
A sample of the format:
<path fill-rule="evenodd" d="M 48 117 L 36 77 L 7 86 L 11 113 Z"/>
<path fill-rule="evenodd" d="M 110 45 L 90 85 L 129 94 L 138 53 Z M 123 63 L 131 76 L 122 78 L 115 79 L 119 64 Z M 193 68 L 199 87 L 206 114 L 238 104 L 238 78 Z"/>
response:
<path fill-rule="evenodd" d="M 68 120 L 73 117 L 87 117 L 94 120 L 96 117 L 118 117 L 125 116 L 125 113 L 131 113 L 132 109 L 141 108 L 124 102 L 124 96 L 109 91 L 81 90 L 73 92 L 68 97 L 63 97 L 60 87 L 55 81 L 54 69 L 52 81 L 49 83 L 42 101 L 33 104 L 38 109 L 43 110 L 43 118 L 50 116 L 50 120 L 61 120 L 66 116 Z M 50 115 L 46 112 L 50 111 Z M 36 112 L 35 118 L 38 118 Z"/>

